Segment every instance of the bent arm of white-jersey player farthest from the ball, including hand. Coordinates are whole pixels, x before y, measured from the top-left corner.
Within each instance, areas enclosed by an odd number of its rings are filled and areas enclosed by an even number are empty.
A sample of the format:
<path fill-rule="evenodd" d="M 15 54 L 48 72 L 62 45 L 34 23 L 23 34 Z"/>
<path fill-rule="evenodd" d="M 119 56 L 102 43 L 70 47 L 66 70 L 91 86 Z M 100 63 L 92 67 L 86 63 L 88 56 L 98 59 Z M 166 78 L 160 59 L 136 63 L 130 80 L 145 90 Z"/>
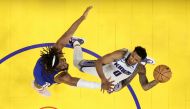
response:
<path fill-rule="evenodd" d="M 103 65 L 109 64 L 111 62 L 114 62 L 115 60 L 123 58 L 123 56 L 126 54 L 126 52 L 127 52 L 127 49 L 117 50 L 112 53 L 104 55 L 103 57 L 99 58 L 96 61 L 96 70 L 101 79 L 103 91 L 109 90 L 109 89 L 111 89 L 111 86 L 113 86 L 113 84 L 112 84 L 113 81 L 110 82 L 104 75 L 103 68 L 102 68 Z"/>

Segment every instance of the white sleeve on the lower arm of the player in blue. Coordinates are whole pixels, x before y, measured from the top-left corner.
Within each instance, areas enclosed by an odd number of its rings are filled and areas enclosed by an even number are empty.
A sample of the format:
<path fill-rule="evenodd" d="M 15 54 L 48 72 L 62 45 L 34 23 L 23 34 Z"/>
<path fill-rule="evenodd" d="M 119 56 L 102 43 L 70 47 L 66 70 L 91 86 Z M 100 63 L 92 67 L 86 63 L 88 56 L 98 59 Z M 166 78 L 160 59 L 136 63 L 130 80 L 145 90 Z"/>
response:
<path fill-rule="evenodd" d="M 86 81 L 86 80 L 80 79 L 77 82 L 77 87 L 100 89 L 101 88 L 101 83 L 91 82 L 91 81 Z"/>

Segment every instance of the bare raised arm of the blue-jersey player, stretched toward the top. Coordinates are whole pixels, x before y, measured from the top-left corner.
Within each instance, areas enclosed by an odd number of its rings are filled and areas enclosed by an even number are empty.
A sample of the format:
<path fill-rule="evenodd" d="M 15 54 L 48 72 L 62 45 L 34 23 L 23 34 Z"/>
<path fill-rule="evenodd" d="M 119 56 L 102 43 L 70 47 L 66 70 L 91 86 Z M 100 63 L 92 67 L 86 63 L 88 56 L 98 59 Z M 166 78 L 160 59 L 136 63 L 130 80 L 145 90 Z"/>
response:
<path fill-rule="evenodd" d="M 66 44 L 68 44 L 70 38 L 73 36 L 74 32 L 77 30 L 81 22 L 86 19 L 88 12 L 92 6 L 87 7 L 85 12 L 82 14 L 80 18 L 78 18 L 72 25 L 71 27 L 57 40 L 55 47 L 59 50 L 62 50 L 63 47 L 65 47 Z"/>

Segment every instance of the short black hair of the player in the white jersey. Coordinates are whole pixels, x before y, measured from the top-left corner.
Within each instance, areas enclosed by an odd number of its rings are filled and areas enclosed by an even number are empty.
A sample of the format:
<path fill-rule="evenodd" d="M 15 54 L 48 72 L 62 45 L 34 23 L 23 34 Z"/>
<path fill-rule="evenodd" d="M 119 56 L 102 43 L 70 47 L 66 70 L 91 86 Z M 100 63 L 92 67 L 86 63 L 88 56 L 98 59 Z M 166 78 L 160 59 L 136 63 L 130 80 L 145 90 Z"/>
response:
<path fill-rule="evenodd" d="M 146 49 L 141 46 L 136 46 L 134 51 L 144 60 L 147 57 Z"/>

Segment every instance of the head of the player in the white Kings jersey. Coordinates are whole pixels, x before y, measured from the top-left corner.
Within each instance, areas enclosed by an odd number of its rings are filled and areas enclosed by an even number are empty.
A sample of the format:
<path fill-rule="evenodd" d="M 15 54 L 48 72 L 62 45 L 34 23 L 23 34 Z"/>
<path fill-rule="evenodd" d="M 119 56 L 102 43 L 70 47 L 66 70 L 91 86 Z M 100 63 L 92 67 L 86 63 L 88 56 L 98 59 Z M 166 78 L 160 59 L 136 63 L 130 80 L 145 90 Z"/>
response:
<path fill-rule="evenodd" d="M 142 60 L 144 60 L 146 58 L 146 56 L 147 56 L 146 49 L 141 46 L 137 46 L 137 47 L 135 47 L 133 52 L 130 54 L 130 56 L 127 60 L 127 63 L 129 65 L 134 65 L 134 64 L 139 63 Z"/>

